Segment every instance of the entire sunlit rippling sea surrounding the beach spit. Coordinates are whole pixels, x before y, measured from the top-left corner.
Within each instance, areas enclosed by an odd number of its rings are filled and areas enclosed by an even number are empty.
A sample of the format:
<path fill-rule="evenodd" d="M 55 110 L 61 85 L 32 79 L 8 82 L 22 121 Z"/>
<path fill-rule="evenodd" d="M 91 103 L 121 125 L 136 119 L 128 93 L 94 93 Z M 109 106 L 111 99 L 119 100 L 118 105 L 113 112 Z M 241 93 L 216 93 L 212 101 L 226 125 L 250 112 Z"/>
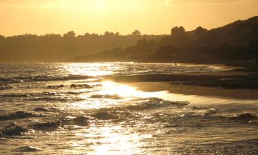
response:
<path fill-rule="evenodd" d="M 0 154 L 257 154 L 258 101 L 141 92 L 102 80 L 225 68 L 1 64 Z"/>

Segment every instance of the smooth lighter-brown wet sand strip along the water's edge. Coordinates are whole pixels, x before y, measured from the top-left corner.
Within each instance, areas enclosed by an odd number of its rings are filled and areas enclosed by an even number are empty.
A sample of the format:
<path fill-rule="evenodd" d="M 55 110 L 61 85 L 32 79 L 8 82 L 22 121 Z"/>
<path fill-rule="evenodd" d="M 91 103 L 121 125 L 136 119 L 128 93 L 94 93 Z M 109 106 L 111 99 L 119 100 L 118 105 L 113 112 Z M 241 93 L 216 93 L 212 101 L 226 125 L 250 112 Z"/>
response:
<path fill-rule="evenodd" d="M 168 91 L 174 94 L 219 96 L 230 99 L 258 99 L 258 90 L 251 89 L 224 89 L 220 87 L 201 87 L 195 85 L 174 85 L 166 82 L 132 82 L 126 83 L 144 92 Z"/>

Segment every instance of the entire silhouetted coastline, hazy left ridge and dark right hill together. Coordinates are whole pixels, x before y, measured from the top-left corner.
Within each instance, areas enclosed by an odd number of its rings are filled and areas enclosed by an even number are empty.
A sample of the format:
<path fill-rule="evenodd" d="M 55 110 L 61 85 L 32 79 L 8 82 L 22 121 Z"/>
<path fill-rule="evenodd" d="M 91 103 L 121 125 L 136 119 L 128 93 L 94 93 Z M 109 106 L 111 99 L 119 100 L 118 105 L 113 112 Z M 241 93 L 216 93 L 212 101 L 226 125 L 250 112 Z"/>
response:
<path fill-rule="evenodd" d="M 0 35 L 0 62 L 159 62 L 258 63 L 258 17 L 220 28 L 171 29 L 171 35 L 147 35 L 135 30 L 122 36 L 78 35 L 75 32 Z M 103 52 L 101 52 L 103 51 Z"/>

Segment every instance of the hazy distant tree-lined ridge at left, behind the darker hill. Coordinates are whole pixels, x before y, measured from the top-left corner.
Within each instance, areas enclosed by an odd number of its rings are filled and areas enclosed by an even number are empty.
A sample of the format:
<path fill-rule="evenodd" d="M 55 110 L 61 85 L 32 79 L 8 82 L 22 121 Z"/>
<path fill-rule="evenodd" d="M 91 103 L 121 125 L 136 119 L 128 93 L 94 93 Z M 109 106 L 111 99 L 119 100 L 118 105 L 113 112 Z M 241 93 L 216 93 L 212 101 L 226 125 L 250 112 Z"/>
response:
<path fill-rule="evenodd" d="M 76 36 L 66 34 L 24 34 L 12 37 L 0 35 L 0 61 L 67 61 L 75 56 L 95 54 L 117 47 L 135 45 L 139 39 L 161 39 L 164 35 L 141 35 L 135 30 L 130 35 L 105 32 L 103 35 L 89 34 Z"/>

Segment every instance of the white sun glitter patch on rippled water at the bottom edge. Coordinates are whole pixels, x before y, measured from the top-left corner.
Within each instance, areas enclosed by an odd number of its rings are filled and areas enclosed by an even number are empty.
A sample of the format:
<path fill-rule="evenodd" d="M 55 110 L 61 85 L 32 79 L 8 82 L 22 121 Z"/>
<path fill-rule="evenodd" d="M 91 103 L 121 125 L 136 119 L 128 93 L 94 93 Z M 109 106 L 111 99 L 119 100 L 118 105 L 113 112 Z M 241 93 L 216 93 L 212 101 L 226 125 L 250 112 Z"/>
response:
<path fill-rule="evenodd" d="M 106 127 L 91 127 L 90 132 L 77 134 L 85 137 L 85 141 L 73 143 L 74 147 L 85 147 L 85 143 L 91 144 L 92 154 L 142 154 L 143 139 L 151 138 L 151 134 L 136 134 L 130 129 L 125 129 L 120 125 L 107 125 Z M 80 150 L 78 150 L 80 152 Z M 77 153 L 78 153 L 77 152 Z"/>

